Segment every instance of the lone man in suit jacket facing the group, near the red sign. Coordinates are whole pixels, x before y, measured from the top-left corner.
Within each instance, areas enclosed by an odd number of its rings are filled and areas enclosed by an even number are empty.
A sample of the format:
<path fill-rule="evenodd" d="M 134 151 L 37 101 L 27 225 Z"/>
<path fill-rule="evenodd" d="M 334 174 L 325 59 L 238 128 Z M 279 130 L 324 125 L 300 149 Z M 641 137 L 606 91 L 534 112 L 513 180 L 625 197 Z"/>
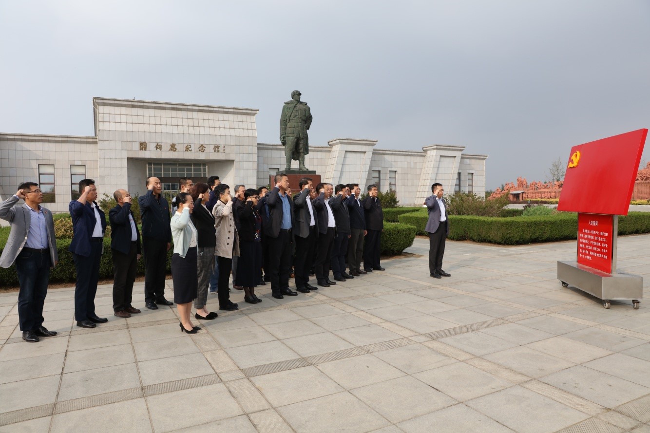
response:
<path fill-rule="evenodd" d="M 431 185 L 433 194 L 428 196 L 423 204 L 429 213 L 424 230 L 429 233 L 429 273 L 433 278 L 451 276 L 443 267 L 443 256 L 445 256 L 445 240 L 449 235 L 449 224 L 447 221 L 447 209 L 443 200 L 443 185 L 434 183 Z"/>

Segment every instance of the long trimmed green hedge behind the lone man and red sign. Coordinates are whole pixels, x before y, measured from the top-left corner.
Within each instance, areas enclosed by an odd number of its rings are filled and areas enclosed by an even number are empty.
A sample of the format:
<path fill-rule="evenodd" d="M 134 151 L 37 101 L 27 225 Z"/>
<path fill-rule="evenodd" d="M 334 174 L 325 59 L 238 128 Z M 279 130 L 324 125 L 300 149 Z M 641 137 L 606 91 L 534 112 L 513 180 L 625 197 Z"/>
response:
<path fill-rule="evenodd" d="M 428 216 L 424 209 L 399 216 L 402 224 L 415 226 L 417 234 L 426 235 Z M 493 244 L 521 245 L 537 242 L 577 239 L 578 215 L 560 213 L 544 217 L 471 217 L 449 215 L 449 239 Z M 650 233 L 650 213 L 630 212 L 618 217 L 618 234 Z"/>

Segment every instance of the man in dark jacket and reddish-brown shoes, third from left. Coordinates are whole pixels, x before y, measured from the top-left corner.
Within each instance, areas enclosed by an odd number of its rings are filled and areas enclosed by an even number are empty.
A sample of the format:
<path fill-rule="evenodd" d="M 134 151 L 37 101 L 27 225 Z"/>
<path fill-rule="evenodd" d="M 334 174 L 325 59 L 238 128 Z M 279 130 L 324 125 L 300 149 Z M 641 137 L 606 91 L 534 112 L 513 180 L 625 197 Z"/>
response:
<path fill-rule="evenodd" d="M 140 313 L 133 308 L 133 283 L 140 260 L 140 233 L 131 212 L 131 194 L 125 189 L 113 192 L 117 205 L 109 211 L 110 251 L 113 254 L 113 311 L 126 319 Z"/>

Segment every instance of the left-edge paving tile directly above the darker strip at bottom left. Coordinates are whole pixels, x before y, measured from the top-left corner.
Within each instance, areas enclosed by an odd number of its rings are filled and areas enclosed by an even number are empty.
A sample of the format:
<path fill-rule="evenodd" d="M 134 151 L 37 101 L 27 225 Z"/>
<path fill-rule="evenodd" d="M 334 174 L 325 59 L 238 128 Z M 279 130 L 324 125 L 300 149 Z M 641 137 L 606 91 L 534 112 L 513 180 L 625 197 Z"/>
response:
<path fill-rule="evenodd" d="M 0 385 L 0 413 L 53 403 L 59 380 L 58 375 L 45 376 Z"/>

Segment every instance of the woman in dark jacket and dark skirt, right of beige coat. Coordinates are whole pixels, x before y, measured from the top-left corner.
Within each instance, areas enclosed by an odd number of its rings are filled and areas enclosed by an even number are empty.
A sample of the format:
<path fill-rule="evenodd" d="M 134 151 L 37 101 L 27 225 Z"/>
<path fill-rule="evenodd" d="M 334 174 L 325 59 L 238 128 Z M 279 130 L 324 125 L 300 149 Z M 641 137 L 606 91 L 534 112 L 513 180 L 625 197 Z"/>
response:
<path fill-rule="evenodd" d="M 262 244 L 261 233 L 262 218 L 255 210 L 257 190 L 247 189 L 244 192 L 246 205 L 239 215 L 239 252 L 240 259 L 237 265 L 237 285 L 244 287 L 244 301 L 249 304 L 262 302 L 255 296 L 255 286 L 259 280 L 262 269 Z"/>

